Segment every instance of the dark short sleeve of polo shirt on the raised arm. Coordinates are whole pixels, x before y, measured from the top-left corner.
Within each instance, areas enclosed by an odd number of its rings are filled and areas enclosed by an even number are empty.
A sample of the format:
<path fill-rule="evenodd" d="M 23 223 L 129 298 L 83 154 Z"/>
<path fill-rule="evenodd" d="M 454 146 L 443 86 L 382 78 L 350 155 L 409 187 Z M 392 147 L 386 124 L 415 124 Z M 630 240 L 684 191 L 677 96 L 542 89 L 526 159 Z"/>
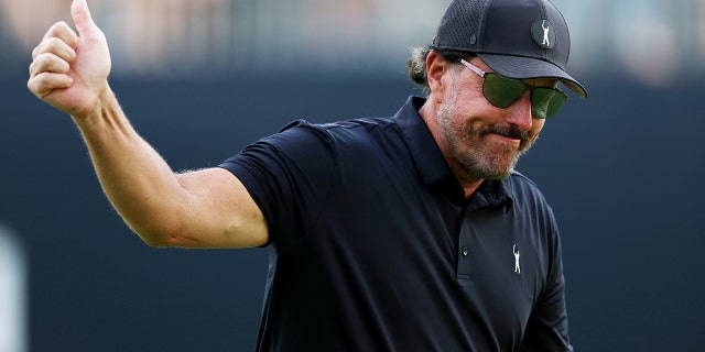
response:
<path fill-rule="evenodd" d="M 269 243 L 288 251 L 314 224 L 335 174 L 334 143 L 319 125 L 299 120 L 219 166 L 245 185 L 269 226 Z"/>

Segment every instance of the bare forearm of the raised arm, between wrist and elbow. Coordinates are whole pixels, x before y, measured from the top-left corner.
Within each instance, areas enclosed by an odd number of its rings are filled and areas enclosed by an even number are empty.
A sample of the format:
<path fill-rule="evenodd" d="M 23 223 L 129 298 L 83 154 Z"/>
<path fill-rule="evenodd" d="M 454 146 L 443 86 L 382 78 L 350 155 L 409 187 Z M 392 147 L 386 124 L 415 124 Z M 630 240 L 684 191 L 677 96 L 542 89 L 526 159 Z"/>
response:
<path fill-rule="evenodd" d="M 186 202 L 170 166 L 135 132 L 110 89 L 88 116 L 72 118 L 112 206 L 147 243 L 165 244 Z"/>

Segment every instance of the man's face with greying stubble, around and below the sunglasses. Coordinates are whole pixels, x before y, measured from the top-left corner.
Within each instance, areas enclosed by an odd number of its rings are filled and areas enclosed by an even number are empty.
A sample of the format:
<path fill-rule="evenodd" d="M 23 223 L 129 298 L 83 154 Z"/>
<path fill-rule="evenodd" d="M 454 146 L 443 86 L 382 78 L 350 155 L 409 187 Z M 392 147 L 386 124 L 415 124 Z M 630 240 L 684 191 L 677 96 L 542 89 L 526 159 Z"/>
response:
<path fill-rule="evenodd" d="M 478 58 L 471 63 L 491 72 Z M 485 99 L 484 78 L 474 72 L 456 65 L 442 79 L 445 88 L 436 113 L 436 134 L 451 167 L 470 180 L 508 177 L 545 121 L 531 117 L 530 94 L 500 109 Z M 551 85 L 550 80 L 527 82 Z"/>

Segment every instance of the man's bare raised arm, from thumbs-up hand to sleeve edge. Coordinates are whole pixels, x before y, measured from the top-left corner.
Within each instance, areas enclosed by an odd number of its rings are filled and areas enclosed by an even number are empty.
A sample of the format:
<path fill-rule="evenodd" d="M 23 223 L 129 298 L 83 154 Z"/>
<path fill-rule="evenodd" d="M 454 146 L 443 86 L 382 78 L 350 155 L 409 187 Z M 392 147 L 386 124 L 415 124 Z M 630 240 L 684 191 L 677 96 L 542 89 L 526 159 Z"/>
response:
<path fill-rule="evenodd" d="M 54 24 L 32 52 L 28 88 L 70 114 L 110 202 L 148 244 L 245 248 L 264 244 L 267 222 L 229 172 L 174 174 L 131 127 L 108 85 L 110 54 L 86 0 L 74 0 L 78 35 Z"/>

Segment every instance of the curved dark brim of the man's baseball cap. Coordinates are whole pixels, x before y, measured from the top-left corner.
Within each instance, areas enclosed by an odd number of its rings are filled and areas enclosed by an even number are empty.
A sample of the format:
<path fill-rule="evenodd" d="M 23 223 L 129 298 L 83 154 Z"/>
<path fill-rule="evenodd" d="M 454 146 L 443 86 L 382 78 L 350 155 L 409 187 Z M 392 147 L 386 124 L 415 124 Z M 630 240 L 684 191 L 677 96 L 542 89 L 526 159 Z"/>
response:
<path fill-rule="evenodd" d="M 587 90 L 561 67 L 549 62 L 511 55 L 478 53 L 482 62 L 496 73 L 513 79 L 556 78 L 581 98 L 587 98 Z"/>

